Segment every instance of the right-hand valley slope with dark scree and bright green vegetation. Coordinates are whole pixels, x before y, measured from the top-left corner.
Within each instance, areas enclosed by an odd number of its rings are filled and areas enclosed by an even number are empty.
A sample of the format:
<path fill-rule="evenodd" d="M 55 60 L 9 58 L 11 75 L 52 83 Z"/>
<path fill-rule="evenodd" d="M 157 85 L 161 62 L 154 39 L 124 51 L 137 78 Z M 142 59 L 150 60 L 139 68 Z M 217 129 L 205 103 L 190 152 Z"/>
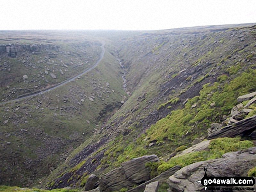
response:
<path fill-rule="evenodd" d="M 128 89 L 133 94 L 103 127 L 102 134 L 113 135 L 112 141 L 89 156 L 104 152 L 96 174 L 141 155 L 167 158 L 175 148 L 205 136 L 211 123 L 229 114 L 239 95 L 256 91 L 255 30 L 167 30 L 118 42 L 116 55 L 128 71 Z M 179 72 L 183 69 L 187 74 Z M 172 98 L 179 101 L 175 104 Z M 186 98 L 191 99 L 182 106 Z M 197 107 L 191 109 L 195 103 Z M 152 115 L 155 112 L 158 116 Z M 148 147 L 150 142 L 155 145 Z M 58 173 L 61 170 L 65 169 Z"/>

